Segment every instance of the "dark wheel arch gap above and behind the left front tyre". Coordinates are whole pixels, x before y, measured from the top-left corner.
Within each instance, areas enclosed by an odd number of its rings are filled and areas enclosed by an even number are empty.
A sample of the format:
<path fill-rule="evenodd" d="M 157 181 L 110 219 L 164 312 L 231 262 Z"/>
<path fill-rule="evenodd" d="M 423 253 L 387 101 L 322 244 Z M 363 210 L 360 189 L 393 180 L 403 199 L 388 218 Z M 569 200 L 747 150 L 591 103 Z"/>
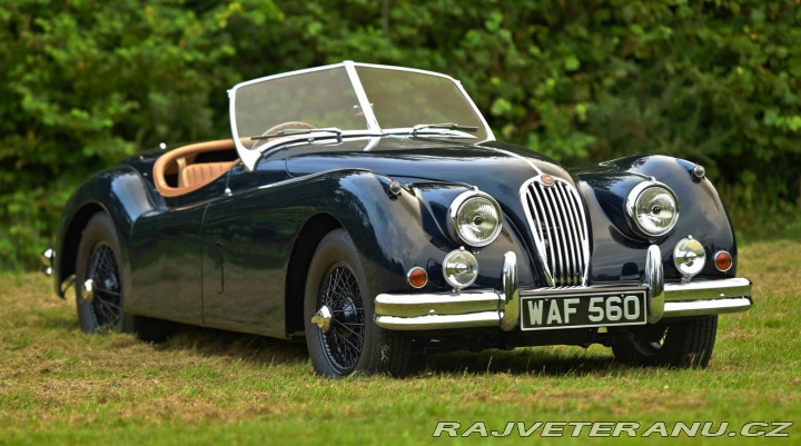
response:
<path fill-rule="evenodd" d="M 334 216 L 320 212 L 312 216 L 298 232 L 287 264 L 285 299 L 286 333 L 293 334 L 304 329 L 303 296 L 306 291 L 306 276 L 312 258 L 320 240 L 334 229 L 343 225 Z"/>

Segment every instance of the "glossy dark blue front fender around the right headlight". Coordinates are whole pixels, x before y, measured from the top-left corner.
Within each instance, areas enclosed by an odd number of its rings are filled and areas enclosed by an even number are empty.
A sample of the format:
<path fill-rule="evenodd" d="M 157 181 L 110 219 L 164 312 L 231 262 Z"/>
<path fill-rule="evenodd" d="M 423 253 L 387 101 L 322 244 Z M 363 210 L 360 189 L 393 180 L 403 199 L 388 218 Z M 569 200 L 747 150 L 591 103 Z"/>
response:
<path fill-rule="evenodd" d="M 665 156 L 633 156 L 603 162 L 599 168 L 574 172 L 581 181 L 593 232 L 591 279 L 594 283 L 641 277 L 645 251 L 657 245 L 662 251 L 665 279 L 681 274 L 673 264 L 673 249 L 683 238 L 700 240 L 706 265 L 699 278 L 735 277 L 736 242 L 729 215 L 712 184 L 692 175 L 694 163 Z M 651 178 L 668 185 L 679 199 L 679 220 L 665 236 L 649 239 L 631 230 L 625 200 L 631 190 Z M 721 272 L 710 261 L 718 250 L 728 250 L 734 265 Z"/>

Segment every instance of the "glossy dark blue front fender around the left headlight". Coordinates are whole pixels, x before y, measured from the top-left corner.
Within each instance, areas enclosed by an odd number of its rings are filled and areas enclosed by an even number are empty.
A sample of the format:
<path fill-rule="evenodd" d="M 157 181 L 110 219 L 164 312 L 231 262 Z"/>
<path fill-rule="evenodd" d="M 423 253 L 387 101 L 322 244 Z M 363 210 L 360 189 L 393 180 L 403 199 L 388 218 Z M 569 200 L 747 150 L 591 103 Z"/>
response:
<path fill-rule="evenodd" d="M 336 188 L 328 189 L 333 190 L 333 199 L 323 200 L 324 211 L 334 216 L 356 244 L 375 294 L 412 291 L 406 272 L 413 267 L 428 272 L 424 290 L 449 289 L 442 260 L 461 244 L 447 236 L 443 209 L 471 188 L 449 182 L 409 184 L 396 196 L 389 191 L 392 181 L 368 171 L 338 176 Z M 504 254 L 513 251 L 526 258 L 523 246 L 517 228 L 505 218 L 493 244 L 472 249 L 479 265 L 473 287 L 500 289 Z M 521 268 L 520 276 L 522 283 L 533 284 L 527 265 Z"/>

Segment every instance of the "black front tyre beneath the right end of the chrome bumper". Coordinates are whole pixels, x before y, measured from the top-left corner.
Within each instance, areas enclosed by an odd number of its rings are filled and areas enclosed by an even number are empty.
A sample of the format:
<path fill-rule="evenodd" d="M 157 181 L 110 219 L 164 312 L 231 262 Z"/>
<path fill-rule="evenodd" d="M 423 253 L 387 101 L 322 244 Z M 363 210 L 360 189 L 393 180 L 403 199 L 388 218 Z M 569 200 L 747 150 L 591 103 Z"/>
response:
<path fill-rule="evenodd" d="M 718 315 L 617 331 L 615 359 L 632 365 L 705 368 L 712 358 Z"/>

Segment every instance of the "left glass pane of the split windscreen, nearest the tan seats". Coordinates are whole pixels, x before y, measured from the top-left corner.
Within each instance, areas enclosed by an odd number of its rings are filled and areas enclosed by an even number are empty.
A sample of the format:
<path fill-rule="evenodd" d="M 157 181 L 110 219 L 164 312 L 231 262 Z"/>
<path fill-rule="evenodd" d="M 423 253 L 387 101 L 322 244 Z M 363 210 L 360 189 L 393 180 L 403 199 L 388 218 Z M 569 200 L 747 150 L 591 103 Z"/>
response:
<path fill-rule="evenodd" d="M 240 86 L 234 109 L 240 138 L 264 135 L 286 122 L 364 130 L 367 121 L 344 67 Z"/>

